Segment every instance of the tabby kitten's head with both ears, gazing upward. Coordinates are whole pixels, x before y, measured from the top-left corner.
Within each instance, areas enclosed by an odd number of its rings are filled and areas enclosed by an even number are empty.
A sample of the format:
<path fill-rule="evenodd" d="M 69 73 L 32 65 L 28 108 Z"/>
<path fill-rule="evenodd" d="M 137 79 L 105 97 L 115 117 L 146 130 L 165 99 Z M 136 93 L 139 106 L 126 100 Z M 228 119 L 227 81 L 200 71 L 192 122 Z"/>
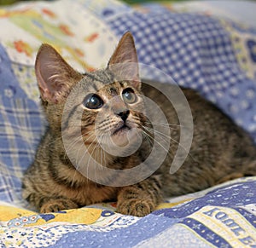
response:
<path fill-rule="evenodd" d="M 99 137 L 106 143 L 112 137 L 122 145 L 127 134 L 143 124 L 137 51 L 130 32 L 121 38 L 105 69 L 76 72 L 54 48 L 43 44 L 35 70 L 46 117 L 56 133 L 61 131 L 63 112 L 67 127 L 80 126 L 85 143 L 98 142 Z M 74 112 L 81 115 L 74 118 Z"/>

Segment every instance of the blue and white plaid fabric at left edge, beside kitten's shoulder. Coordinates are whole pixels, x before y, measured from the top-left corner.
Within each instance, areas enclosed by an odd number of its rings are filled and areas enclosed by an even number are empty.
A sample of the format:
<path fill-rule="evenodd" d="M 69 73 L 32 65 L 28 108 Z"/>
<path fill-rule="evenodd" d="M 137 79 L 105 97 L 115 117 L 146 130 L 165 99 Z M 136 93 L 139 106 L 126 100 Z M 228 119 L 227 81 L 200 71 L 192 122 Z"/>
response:
<path fill-rule="evenodd" d="M 21 68 L 21 66 L 20 66 Z M 22 177 L 44 130 L 38 105 L 27 98 L 0 44 L 0 199 L 20 204 Z"/>

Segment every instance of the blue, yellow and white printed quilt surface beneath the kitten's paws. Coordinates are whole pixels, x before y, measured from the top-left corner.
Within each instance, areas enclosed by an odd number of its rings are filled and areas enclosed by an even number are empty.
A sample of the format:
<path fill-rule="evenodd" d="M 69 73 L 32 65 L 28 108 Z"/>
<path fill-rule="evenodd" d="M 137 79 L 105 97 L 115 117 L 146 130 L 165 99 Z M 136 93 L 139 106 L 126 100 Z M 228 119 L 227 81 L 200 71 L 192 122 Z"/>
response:
<path fill-rule="evenodd" d="M 256 178 L 159 205 L 145 217 L 115 205 L 38 214 L 0 207 L 2 247 L 255 247 Z M 1 204 L 1 203 L 0 203 Z"/>

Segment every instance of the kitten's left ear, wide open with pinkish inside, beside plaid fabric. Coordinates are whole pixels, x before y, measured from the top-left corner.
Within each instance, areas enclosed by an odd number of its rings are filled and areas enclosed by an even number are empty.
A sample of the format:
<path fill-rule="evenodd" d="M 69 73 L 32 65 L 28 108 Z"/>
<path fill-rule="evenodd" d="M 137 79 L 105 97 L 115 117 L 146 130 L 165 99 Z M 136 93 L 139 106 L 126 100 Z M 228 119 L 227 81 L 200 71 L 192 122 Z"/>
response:
<path fill-rule="evenodd" d="M 52 103 L 66 98 L 73 84 L 82 78 L 49 44 L 38 50 L 35 71 L 42 99 Z"/>

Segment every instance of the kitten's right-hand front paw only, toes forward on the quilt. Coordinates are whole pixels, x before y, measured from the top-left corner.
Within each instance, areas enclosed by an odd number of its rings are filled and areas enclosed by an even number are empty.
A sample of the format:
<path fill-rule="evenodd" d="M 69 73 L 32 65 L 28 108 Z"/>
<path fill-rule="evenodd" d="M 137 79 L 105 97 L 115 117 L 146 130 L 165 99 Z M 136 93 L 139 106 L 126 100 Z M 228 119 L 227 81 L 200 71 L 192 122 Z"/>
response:
<path fill-rule="evenodd" d="M 126 199 L 118 202 L 117 211 L 123 215 L 143 217 L 154 211 L 154 204 L 143 199 Z"/>

